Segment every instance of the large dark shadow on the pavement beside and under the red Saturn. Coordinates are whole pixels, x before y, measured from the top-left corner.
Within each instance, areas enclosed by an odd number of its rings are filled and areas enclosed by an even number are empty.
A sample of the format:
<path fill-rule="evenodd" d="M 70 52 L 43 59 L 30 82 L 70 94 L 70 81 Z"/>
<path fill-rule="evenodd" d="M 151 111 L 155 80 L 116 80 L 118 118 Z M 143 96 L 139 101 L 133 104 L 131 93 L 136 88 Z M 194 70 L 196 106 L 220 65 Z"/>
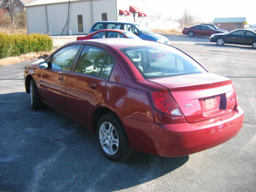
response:
<path fill-rule="evenodd" d="M 114 191 L 144 184 L 184 165 L 134 152 L 108 160 L 96 134 L 58 112 L 30 108 L 25 92 L 0 94 L 0 191 Z"/>

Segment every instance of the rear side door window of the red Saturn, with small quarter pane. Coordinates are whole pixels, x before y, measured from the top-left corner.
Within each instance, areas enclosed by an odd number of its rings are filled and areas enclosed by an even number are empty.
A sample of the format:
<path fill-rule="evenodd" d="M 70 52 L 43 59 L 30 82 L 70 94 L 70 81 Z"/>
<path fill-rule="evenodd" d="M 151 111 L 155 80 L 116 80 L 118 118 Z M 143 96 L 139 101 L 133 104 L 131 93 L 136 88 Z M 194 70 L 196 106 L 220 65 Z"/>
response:
<path fill-rule="evenodd" d="M 75 71 L 109 78 L 114 62 L 114 58 L 105 50 L 94 46 L 85 46 L 77 61 Z"/>

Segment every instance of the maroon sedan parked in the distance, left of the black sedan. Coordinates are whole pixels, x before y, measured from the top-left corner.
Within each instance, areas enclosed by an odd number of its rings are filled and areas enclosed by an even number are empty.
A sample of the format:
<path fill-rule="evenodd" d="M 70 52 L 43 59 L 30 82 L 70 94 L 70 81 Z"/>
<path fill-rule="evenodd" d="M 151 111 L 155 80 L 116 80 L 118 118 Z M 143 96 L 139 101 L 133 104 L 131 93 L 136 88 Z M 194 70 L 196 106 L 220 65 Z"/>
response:
<path fill-rule="evenodd" d="M 189 28 L 184 28 L 182 34 L 188 35 L 189 37 L 193 36 L 205 36 L 210 37 L 212 34 L 223 33 L 223 31 L 215 30 L 207 25 L 194 25 Z"/>

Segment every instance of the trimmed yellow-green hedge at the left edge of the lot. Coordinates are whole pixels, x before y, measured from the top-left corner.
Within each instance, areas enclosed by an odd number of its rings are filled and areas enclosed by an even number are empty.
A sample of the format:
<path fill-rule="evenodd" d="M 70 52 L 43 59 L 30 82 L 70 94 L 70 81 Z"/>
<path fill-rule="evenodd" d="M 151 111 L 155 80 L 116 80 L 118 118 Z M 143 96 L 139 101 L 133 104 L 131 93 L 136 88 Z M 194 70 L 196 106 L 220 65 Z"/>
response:
<path fill-rule="evenodd" d="M 0 33 L 0 58 L 52 50 L 52 38 L 43 34 Z"/>

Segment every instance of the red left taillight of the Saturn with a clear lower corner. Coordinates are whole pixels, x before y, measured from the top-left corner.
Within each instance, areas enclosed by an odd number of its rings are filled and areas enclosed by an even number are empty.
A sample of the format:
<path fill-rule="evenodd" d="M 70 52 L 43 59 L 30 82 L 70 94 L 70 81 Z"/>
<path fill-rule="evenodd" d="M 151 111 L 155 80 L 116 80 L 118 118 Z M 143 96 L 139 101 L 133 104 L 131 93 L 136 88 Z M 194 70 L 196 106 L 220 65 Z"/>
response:
<path fill-rule="evenodd" d="M 154 109 L 170 116 L 183 116 L 168 90 L 152 91 L 150 97 Z"/>

